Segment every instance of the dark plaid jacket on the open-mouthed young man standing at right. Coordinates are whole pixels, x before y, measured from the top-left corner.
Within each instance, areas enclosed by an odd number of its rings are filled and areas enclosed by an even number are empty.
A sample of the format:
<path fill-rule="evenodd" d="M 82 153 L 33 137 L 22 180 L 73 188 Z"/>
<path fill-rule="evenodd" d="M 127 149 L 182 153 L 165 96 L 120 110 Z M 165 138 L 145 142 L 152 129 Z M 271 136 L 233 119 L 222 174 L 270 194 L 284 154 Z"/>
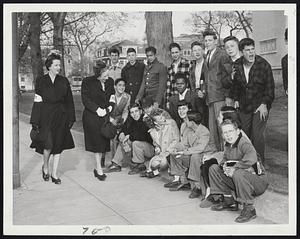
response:
<path fill-rule="evenodd" d="M 269 110 L 274 100 L 274 78 L 270 64 L 256 55 L 247 83 L 243 63 L 243 57 L 234 63 L 236 74 L 230 97 L 239 101 L 240 110 L 243 112 L 254 112 L 260 104 L 266 104 Z"/>

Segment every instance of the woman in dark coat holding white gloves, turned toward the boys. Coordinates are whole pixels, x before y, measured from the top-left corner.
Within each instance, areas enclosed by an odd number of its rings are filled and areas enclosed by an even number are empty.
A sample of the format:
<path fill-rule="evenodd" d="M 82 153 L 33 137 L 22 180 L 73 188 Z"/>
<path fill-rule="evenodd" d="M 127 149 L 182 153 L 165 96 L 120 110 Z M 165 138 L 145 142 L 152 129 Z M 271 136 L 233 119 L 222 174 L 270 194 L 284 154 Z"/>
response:
<path fill-rule="evenodd" d="M 113 110 L 115 104 L 114 81 L 108 77 L 108 68 L 105 63 L 98 61 L 94 67 L 94 76 L 82 81 L 81 98 L 84 105 L 82 124 L 84 131 L 85 150 L 93 152 L 96 160 L 94 175 L 103 181 L 106 175 L 101 167 L 101 156 L 110 151 L 110 140 L 101 134 L 104 116 Z"/>

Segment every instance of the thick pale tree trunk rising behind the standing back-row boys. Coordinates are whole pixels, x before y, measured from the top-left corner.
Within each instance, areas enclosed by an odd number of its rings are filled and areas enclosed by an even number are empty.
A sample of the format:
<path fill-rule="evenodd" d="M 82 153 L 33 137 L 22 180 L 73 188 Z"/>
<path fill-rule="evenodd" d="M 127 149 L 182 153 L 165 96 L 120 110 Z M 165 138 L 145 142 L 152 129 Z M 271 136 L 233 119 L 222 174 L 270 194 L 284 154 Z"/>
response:
<path fill-rule="evenodd" d="M 160 62 L 170 65 L 169 44 L 173 42 L 172 12 L 146 12 L 145 18 L 148 46 L 157 49 Z"/>

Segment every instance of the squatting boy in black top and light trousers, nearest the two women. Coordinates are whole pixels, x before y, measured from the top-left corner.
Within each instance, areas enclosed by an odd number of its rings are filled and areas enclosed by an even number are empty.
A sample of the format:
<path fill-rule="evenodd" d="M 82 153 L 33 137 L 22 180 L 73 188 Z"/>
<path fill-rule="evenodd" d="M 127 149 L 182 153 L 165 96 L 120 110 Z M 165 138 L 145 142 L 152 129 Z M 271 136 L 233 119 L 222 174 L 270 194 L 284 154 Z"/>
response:
<path fill-rule="evenodd" d="M 125 121 L 119 134 L 119 145 L 108 166 L 107 173 L 121 171 L 122 160 L 126 153 L 132 155 L 133 165 L 128 174 L 137 174 L 146 170 L 145 160 L 154 156 L 152 138 L 149 128 L 143 122 L 142 109 L 139 104 L 133 103 L 129 107 L 130 117 Z"/>

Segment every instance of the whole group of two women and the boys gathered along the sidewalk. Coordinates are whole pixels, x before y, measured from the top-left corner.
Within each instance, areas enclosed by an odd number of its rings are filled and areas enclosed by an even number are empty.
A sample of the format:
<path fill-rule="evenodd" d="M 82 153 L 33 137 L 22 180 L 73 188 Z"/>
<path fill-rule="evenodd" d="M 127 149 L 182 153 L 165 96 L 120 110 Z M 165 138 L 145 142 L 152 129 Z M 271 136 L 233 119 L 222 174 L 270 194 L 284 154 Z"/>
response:
<path fill-rule="evenodd" d="M 193 61 L 171 43 L 168 68 L 153 46 L 145 49 L 146 65 L 134 48 L 127 50 L 124 67 L 115 48 L 110 65 L 97 61 L 81 87 L 85 149 L 94 153 L 93 173 L 100 181 L 128 164 L 129 175 L 147 178 L 168 168 L 173 180 L 164 187 L 191 190 L 189 198 L 202 195 L 200 207 L 215 211 L 236 211 L 240 203 L 236 222 L 246 222 L 256 217 L 254 199 L 268 187 L 264 131 L 274 100 L 272 69 L 255 54 L 253 39 L 228 36 L 224 51 L 213 31 L 203 36 L 204 44 L 191 44 Z M 30 119 L 38 132 L 31 147 L 43 154 L 42 177 L 48 181 L 51 175 L 56 184 L 60 154 L 74 147 L 75 121 L 70 84 L 58 75 L 60 60 L 48 56 L 49 73 L 36 80 Z M 112 139 L 103 134 L 106 123 L 116 128 Z M 109 151 L 112 160 L 104 169 Z"/>

